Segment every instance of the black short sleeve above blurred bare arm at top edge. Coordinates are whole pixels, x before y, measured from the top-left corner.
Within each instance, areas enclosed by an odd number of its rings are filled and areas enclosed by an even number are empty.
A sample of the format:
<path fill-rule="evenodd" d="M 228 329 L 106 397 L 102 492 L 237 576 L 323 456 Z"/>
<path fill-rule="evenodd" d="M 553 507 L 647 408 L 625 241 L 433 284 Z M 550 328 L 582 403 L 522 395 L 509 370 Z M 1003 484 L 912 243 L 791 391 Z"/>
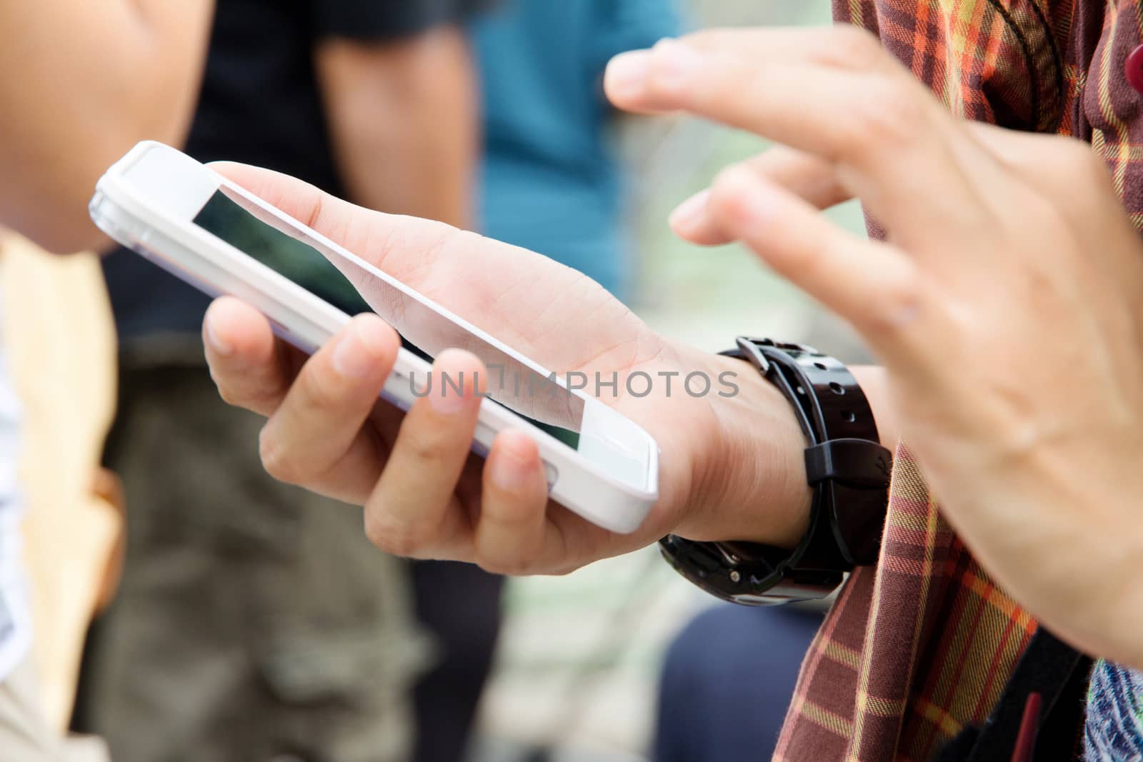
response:
<path fill-rule="evenodd" d="M 463 23 L 493 5 L 495 0 L 313 0 L 312 8 L 319 38 L 390 40 Z"/>

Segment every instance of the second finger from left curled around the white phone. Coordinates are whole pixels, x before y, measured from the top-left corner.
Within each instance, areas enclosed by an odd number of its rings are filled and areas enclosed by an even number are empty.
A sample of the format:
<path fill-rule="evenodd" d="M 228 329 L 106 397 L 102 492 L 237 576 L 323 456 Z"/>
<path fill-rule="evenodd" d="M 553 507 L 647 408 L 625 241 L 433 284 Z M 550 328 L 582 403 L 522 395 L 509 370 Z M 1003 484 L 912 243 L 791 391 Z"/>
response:
<path fill-rule="evenodd" d="M 400 339 L 362 314 L 302 367 L 262 431 L 262 463 L 275 479 L 362 502 L 382 454 L 363 424 L 392 370 Z"/>

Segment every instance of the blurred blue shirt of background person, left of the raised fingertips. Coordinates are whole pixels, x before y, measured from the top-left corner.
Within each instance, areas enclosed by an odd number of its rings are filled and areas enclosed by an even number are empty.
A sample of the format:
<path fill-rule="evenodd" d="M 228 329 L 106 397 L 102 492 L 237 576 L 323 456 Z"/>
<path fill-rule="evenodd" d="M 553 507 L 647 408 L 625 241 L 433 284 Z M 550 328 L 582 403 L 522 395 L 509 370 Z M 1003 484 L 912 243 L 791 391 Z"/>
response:
<path fill-rule="evenodd" d="M 583 271 L 623 296 L 612 56 L 679 31 L 676 0 L 507 0 L 473 24 L 483 86 L 482 232 Z"/>

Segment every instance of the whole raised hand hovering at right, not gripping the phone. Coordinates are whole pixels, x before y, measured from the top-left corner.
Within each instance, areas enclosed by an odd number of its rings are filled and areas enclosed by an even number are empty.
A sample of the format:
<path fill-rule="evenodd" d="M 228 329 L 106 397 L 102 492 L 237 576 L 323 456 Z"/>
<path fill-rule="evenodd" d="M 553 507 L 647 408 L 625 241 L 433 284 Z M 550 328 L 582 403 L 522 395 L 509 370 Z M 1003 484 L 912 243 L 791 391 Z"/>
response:
<path fill-rule="evenodd" d="M 884 360 L 949 521 L 1041 621 L 1143 667 L 1143 246 L 1089 146 L 950 117 L 871 35 L 711 31 L 612 62 L 616 105 L 784 147 L 674 230 L 741 240 Z M 858 198 L 885 241 L 820 210 Z"/>

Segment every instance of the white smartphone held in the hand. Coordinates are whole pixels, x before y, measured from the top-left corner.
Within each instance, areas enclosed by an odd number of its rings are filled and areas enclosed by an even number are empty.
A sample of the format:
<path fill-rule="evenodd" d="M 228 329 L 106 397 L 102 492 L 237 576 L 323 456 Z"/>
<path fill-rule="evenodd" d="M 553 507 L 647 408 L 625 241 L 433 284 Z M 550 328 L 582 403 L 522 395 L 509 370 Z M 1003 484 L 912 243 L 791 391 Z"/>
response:
<path fill-rule="evenodd" d="M 350 316 L 291 278 L 352 284 L 430 356 L 458 346 L 488 366 L 490 399 L 481 401 L 474 451 L 487 454 L 504 428 L 527 431 L 552 499 L 612 531 L 634 531 L 655 503 L 658 447 L 640 426 L 186 154 L 139 143 L 99 179 L 90 212 L 107 235 L 182 280 L 255 306 L 307 353 Z M 429 370 L 402 348 L 382 398 L 407 410 L 439 393 L 432 384 L 450 383 L 430 379 Z M 557 439 L 510 408 L 568 433 Z"/>

